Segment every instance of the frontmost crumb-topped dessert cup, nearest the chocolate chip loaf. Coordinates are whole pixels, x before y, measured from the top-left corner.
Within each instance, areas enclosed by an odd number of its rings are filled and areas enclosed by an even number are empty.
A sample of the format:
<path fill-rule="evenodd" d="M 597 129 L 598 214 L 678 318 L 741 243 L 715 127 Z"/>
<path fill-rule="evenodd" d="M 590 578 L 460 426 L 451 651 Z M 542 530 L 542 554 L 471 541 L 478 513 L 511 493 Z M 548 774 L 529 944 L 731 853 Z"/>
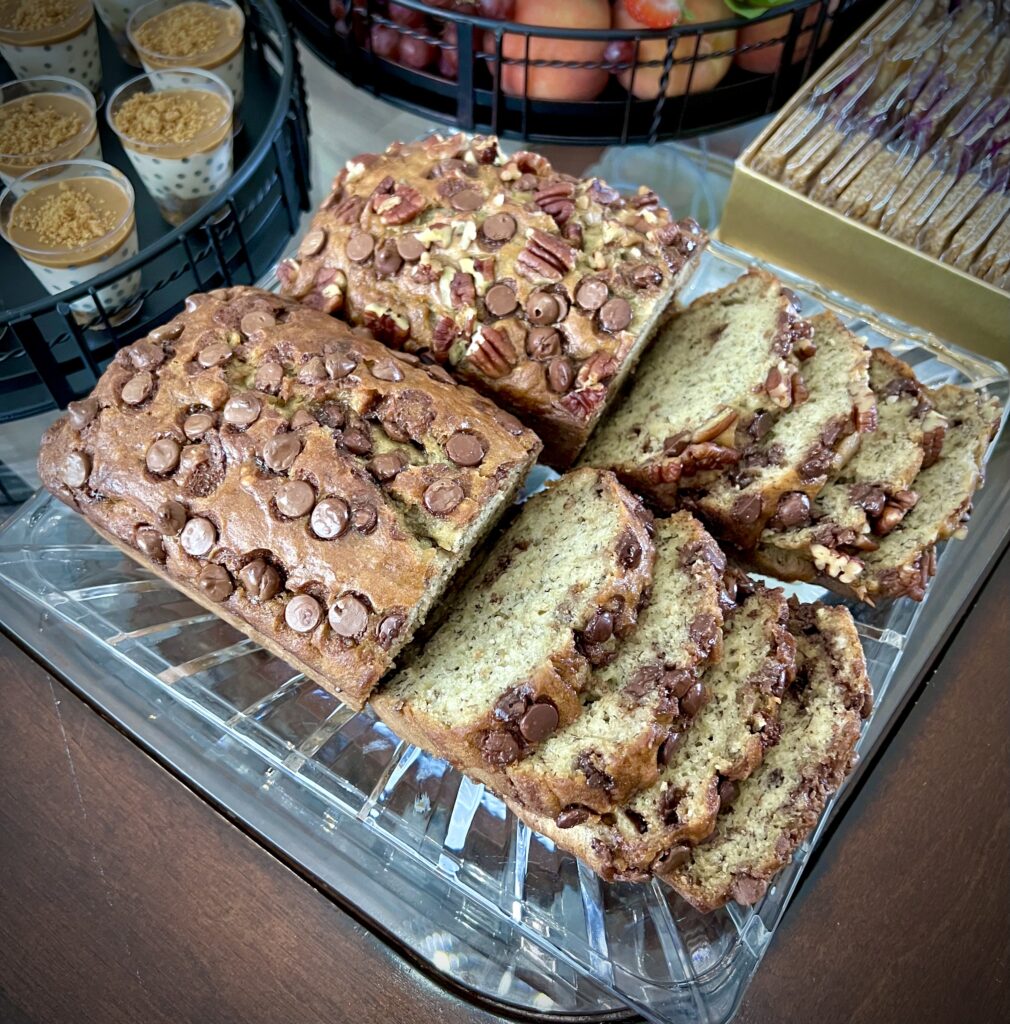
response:
<path fill-rule="evenodd" d="M 0 195 L 0 236 L 55 295 L 136 255 L 133 188 L 126 175 L 97 160 L 43 164 Z M 136 270 L 96 294 L 116 325 L 140 307 L 139 291 Z M 71 308 L 88 327 L 104 327 L 90 296 L 72 302 Z"/>

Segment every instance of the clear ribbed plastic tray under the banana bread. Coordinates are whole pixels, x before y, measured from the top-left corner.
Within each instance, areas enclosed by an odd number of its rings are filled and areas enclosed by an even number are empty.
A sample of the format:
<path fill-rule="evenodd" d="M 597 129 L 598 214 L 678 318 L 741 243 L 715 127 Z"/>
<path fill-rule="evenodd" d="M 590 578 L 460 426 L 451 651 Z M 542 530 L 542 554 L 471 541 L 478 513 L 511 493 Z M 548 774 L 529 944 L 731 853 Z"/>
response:
<path fill-rule="evenodd" d="M 754 262 L 714 244 L 684 298 Z M 927 384 L 966 384 L 1006 408 L 1002 366 L 782 276 L 804 313 L 828 306 Z M 927 601 L 851 605 L 877 695 L 865 760 L 1010 530 L 1010 460 L 998 443 L 968 539 L 941 551 Z M 600 882 L 481 786 L 352 713 L 45 494 L 0 530 L 0 618 L 86 698 L 414 957 L 500 1005 L 728 1020 L 835 806 L 758 906 L 701 915 L 658 882 Z"/>

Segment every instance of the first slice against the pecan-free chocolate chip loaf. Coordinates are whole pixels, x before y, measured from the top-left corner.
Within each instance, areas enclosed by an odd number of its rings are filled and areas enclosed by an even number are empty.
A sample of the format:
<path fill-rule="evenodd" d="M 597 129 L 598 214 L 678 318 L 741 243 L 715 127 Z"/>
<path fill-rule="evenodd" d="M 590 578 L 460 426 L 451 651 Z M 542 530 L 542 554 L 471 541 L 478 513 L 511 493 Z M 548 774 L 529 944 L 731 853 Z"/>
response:
<path fill-rule="evenodd" d="M 372 699 L 405 739 L 480 781 L 582 712 L 593 663 L 651 582 L 651 516 L 613 473 L 561 477 L 522 507 L 440 628 Z"/>

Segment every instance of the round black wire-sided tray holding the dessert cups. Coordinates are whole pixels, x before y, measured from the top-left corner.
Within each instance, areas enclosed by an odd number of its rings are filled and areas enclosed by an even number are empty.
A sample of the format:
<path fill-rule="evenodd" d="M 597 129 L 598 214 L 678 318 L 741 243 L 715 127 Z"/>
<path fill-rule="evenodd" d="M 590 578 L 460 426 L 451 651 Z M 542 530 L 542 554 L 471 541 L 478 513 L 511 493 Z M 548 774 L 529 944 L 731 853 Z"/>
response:
<path fill-rule="evenodd" d="M 280 258 L 308 208 L 308 122 L 301 67 L 273 0 L 243 0 L 246 12 L 243 129 L 235 138 L 235 174 L 225 188 L 169 228 L 136 177 L 99 112 L 104 159 L 123 171 L 136 193 L 137 255 L 90 281 L 47 295 L 8 246 L 0 245 L 0 422 L 62 408 L 86 394 L 123 345 L 177 312 L 185 297 L 233 284 L 252 284 Z M 103 86 L 137 72 L 101 33 Z M 0 79 L 13 76 L 0 61 Z M 98 296 L 137 270 L 141 291 L 135 315 Z M 71 303 L 90 296 L 96 312 L 82 322 Z"/>

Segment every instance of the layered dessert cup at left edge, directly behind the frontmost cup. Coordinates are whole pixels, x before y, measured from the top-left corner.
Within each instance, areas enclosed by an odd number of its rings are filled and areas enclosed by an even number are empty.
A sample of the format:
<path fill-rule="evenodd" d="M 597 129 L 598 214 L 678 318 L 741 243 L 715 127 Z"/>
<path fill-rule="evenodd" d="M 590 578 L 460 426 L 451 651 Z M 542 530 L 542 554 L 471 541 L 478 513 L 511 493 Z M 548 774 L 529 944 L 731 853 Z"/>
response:
<path fill-rule="evenodd" d="M 94 96 L 69 78 L 0 85 L 0 180 L 59 160 L 101 160 Z"/>

